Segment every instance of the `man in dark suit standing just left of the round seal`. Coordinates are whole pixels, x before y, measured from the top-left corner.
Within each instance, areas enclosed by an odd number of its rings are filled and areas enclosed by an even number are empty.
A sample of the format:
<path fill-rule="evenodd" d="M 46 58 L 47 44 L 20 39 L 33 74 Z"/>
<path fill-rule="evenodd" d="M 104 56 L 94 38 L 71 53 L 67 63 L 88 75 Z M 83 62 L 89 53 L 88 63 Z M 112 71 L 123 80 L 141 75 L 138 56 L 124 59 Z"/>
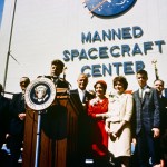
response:
<path fill-rule="evenodd" d="M 26 118 L 26 107 L 24 107 L 24 92 L 27 86 L 30 84 L 28 77 L 20 78 L 21 92 L 14 94 L 10 105 L 11 122 L 10 122 L 10 135 L 11 135 L 11 161 L 10 167 L 18 167 L 18 159 L 21 154 L 21 147 L 23 141 L 24 132 L 24 118 Z"/>

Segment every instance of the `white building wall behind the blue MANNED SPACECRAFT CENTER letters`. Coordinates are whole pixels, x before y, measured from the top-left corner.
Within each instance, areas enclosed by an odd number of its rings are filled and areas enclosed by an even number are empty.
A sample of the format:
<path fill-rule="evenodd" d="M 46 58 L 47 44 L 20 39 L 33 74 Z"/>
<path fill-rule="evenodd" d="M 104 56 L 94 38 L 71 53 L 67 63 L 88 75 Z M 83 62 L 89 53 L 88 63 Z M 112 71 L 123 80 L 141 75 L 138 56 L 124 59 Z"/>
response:
<path fill-rule="evenodd" d="M 3 18 L 0 31 L 0 82 L 3 82 L 6 57 L 9 46 L 9 36 L 14 0 L 6 0 Z M 137 0 L 135 6 L 126 13 L 101 19 L 92 17 L 89 10 L 84 7 L 81 0 L 17 0 L 17 9 L 13 24 L 11 55 L 18 60 L 16 62 L 11 57 L 8 68 L 7 91 L 19 91 L 19 79 L 22 76 L 36 79 L 39 75 L 49 75 L 50 62 L 53 59 L 63 60 L 63 51 L 72 49 L 99 48 L 107 46 L 121 46 L 139 43 L 143 46 L 147 41 L 164 40 L 167 42 L 167 1 L 166 0 Z M 82 43 L 81 32 L 98 31 L 99 33 L 109 29 L 139 26 L 144 35 L 137 39 L 101 41 L 95 43 Z M 72 88 L 77 87 L 77 76 L 82 66 L 108 65 L 111 62 L 144 61 L 149 75 L 148 84 L 151 86 L 155 80 L 155 71 L 151 61 L 157 60 L 158 75 L 167 82 L 166 62 L 167 45 L 163 45 L 163 53 L 154 47 L 147 55 L 125 56 L 124 58 L 81 60 L 66 62 L 68 67 L 67 80 L 71 82 Z M 104 79 L 108 84 L 108 91 L 112 89 L 111 79 L 116 76 L 115 69 L 112 76 L 90 77 L 88 89 L 98 79 Z M 125 75 L 120 69 L 119 75 Z M 129 82 L 128 89 L 137 89 L 135 75 L 126 76 Z"/>

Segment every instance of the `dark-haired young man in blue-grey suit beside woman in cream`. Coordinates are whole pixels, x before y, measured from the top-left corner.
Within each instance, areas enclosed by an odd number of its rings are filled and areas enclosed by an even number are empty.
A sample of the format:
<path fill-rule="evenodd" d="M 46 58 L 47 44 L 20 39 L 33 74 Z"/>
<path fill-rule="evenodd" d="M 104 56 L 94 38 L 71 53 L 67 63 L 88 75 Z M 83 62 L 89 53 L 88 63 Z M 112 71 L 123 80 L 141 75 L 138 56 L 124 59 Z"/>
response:
<path fill-rule="evenodd" d="M 160 126 L 159 98 L 156 89 L 147 85 L 147 71 L 139 70 L 136 77 L 139 89 L 134 92 L 134 127 L 136 127 L 138 166 L 148 167 L 149 164 L 155 166 L 160 163 L 155 145 Z"/>

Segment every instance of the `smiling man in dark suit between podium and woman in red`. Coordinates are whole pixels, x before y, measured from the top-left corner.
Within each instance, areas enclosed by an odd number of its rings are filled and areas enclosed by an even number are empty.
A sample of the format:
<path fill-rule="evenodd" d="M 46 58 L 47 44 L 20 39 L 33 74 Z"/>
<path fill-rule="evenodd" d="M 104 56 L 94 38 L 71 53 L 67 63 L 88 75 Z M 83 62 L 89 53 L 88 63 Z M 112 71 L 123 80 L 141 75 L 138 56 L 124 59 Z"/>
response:
<path fill-rule="evenodd" d="M 87 114 L 87 105 L 94 95 L 86 90 L 88 85 L 88 76 L 80 73 L 77 79 L 78 88 L 70 90 L 70 98 L 79 106 L 78 114 L 78 166 L 85 167 L 85 160 L 89 158 L 90 154 L 90 125 Z"/>

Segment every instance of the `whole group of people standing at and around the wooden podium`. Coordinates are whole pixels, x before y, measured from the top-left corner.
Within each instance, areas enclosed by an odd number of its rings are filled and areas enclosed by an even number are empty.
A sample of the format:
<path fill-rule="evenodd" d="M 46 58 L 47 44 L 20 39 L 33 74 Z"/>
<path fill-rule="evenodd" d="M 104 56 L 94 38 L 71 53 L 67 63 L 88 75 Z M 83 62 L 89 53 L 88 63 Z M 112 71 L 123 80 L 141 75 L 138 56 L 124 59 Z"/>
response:
<path fill-rule="evenodd" d="M 59 88 L 69 82 L 60 78 L 65 68 L 61 60 L 51 62 L 50 76 Z M 95 82 L 94 91 L 87 90 L 88 76 L 80 73 L 78 88 L 70 90 L 70 98 L 80 107 L 78 115 L 78 155 L 71 167 L 166 167 L 167 166 L 167 98 L 163 96 L 164 81 L 157 79 L 148 86 L 148 73 L 136 73 L 138 89 L 127 92 L 124 76 L 112 80 L 115 92 L 106 94 L 107 82 Z M 12 99 L 2 95 L 0 85 L 0 147 L 8 140 L 10 167 L 18 166 L 23 141 L 26 107 L 24 91 L 28 77 L 20 79 L 20 94 Z M 110 84 L 110 82 L 109 82 Z M 135 147 L 135 151 L 132 148 Z M 0 161 L 2 155 L 0 154 Z"/>

